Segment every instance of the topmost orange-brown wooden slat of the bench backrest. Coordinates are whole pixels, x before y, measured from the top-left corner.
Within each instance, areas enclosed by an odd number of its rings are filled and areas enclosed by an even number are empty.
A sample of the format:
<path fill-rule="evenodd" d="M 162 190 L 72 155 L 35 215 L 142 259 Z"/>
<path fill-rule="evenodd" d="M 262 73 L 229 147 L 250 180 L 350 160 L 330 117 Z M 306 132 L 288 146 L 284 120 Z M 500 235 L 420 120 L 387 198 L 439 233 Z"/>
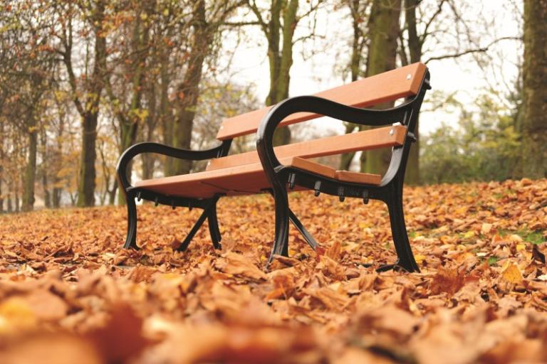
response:
<path fill-rule="evenodd" d="M 318 92 L 315 95 L 353 107 L 368 107 L 397 100 L 400 97 L 417 95 L 425 71 L 426 66 L 423 63 L 413 63 L 397 70 L 351 82 L 348 85 Z M 231 139 L 256 132 L 269 109 L 271 107 L 224 119 L 217 139 Z M 279 125 L 286 126 L 320 116 L 310 112 L 298 112 L 286 117 Z"/>

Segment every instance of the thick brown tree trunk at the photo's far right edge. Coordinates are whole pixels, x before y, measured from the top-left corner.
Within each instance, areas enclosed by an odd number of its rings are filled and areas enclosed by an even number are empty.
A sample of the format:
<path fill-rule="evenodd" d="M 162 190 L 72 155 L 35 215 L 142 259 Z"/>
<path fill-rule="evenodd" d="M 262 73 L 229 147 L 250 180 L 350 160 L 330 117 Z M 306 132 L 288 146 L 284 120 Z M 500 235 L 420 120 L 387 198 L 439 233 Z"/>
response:
<path fill-rule="evenodd" d="M 547 2 L 524 1 L 522 169 L 547 177 Z"/>

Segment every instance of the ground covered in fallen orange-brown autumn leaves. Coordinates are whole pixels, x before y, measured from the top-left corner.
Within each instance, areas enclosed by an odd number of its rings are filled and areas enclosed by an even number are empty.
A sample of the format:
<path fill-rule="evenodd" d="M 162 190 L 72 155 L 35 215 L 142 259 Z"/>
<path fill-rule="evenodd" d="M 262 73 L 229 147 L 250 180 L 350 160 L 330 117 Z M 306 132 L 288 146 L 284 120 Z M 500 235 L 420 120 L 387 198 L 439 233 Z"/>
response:
<path fill-rule="evenodd" d="M 394 262 L 382 203 L 294 193 L 323 248 L 291 230 L 264 269 L 269 196 L 219 203 L 223 250 L 199 211 L 138 207 L 0 217 L 0 363 L 547 362 L 547 181 L 405 189 L 422 272 Z M 49 361 L 48 361 L 49 360 Z"/>

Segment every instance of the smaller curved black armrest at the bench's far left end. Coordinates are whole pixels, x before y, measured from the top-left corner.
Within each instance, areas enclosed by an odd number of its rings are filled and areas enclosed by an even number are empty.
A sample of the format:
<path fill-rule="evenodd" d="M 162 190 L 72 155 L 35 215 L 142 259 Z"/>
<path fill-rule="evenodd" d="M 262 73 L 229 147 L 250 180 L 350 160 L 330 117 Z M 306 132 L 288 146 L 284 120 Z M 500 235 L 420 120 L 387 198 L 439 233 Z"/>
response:
<path fill-rule="evenodd" d="M 191 161 L 203 161 L 204 159 L 212 159 L 228 154 L 231 140 L 223 141 L 222 144 L 212 149 L 206 149 L 203 151 L 192 151 L 189 149 L 178 149 L 172 146 L 167 146 L 159 143 L 152 143 L 150 141 L 144 143 L 138 143 L 125 149 L 123 154 L 118 160 L 118 166 L 116 172 L 118 173 L 118 182 L 123 188 L 123 192 L 127 191 L 130 187 L 129 180 L 127 179 L 127 166 L 135 156 L 142 153 L 155 153 L 162 154 L 164 156 L 170 156 L 177 159 L 187 159 Z"/>

